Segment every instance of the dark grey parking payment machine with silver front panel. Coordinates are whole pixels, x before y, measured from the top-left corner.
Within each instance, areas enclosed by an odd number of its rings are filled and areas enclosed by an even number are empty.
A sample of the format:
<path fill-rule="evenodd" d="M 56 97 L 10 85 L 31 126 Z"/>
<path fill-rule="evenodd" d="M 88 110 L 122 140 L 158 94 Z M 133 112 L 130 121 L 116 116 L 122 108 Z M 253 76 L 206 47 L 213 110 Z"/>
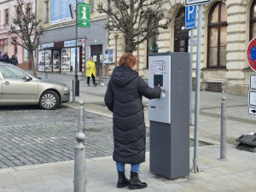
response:
<path fill-rule="evenodd" d="M 189 54 L 149 54 L 148 84 L 164 89 L 148 102 L 150 172 L 189 176 Z"/>

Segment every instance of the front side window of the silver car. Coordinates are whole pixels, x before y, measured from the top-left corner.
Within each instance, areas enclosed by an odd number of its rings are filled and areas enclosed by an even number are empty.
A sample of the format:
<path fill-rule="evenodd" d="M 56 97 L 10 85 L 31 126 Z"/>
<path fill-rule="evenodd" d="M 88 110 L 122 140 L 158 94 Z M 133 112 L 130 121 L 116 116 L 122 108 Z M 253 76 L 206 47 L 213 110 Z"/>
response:
<path fill-rule="evenodd" d="M 0 65 L 0 72 L 4 79 L 26 79 L 27 74 L 15 67 Z"/>

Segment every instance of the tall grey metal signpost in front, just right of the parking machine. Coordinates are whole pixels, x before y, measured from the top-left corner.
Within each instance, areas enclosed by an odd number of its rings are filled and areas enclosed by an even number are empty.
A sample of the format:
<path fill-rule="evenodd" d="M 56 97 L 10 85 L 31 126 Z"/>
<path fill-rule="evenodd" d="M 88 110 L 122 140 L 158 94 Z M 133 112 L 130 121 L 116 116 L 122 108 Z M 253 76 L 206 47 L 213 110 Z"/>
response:
<path fill-rule="evenodd" d="M 195 86 L 195 146 L 194 159 L 191 172 L 199 172 L 197 165 L 198 132 L 199 132 L 199 111 L 200 111 L 200 79 L 201 79 L 201 26 L 202 26 L 202 5 L 198 5 L 198 28 L 197 28 L 197 50 L 196 50 L 196 86 Z"/>

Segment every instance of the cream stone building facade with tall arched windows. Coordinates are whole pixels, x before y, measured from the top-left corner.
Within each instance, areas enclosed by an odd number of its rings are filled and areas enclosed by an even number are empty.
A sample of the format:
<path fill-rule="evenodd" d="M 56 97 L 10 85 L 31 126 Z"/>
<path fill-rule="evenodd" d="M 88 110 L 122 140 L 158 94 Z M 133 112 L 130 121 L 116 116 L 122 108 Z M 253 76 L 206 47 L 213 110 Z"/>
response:
<path fill-rule="evenodd" d="M 256 36 L 255 0 L 212 0 L 203 5 L 201 89 L 217 84 L 218 89 L 234 95 L 247 95 L 249 74 L 246 49 Z M 166 15 L 172 18 L 167 30 L 139 45 L 139 75 L 148 76 L 148 53 L 189 52 L 190 32 L 184 30 L 184 0 L 169 0 Z M 110 47 L 115 46 L 114 33 L 110 33 Z M 197 29 L 194 30 L 197 39 Z M 124 53 L 124 39 L 119 34 L 118 58 Z M 196 44 L 193 47 L 193 77 L 195 78 Z"/>

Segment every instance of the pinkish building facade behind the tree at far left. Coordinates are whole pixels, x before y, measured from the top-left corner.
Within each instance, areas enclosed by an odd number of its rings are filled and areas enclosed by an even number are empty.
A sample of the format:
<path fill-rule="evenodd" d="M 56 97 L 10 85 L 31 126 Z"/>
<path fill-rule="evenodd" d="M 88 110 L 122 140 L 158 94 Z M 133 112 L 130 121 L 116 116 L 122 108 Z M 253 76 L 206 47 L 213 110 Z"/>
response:
<path fill-rule="evenodd" d="M 3 57 L 4 53 L 8 53 L 9 57 L 15 55 L 19 62 L 19 67 L 30 69 L 28 51 L 21 46 L 11 44 L 12 39 L 8 33 L 12 19 L 17 16 L 15 4 L 15 0 L 0 0 L 0 58 Z M 24 7 L 26 8 L 28 6 L 32 8 L 32 12 L 34 12 L 34 1 L 26 0 Z M 22 40 L 19 37 L 17 37 L 17 41 L 22 44 Z"/>

